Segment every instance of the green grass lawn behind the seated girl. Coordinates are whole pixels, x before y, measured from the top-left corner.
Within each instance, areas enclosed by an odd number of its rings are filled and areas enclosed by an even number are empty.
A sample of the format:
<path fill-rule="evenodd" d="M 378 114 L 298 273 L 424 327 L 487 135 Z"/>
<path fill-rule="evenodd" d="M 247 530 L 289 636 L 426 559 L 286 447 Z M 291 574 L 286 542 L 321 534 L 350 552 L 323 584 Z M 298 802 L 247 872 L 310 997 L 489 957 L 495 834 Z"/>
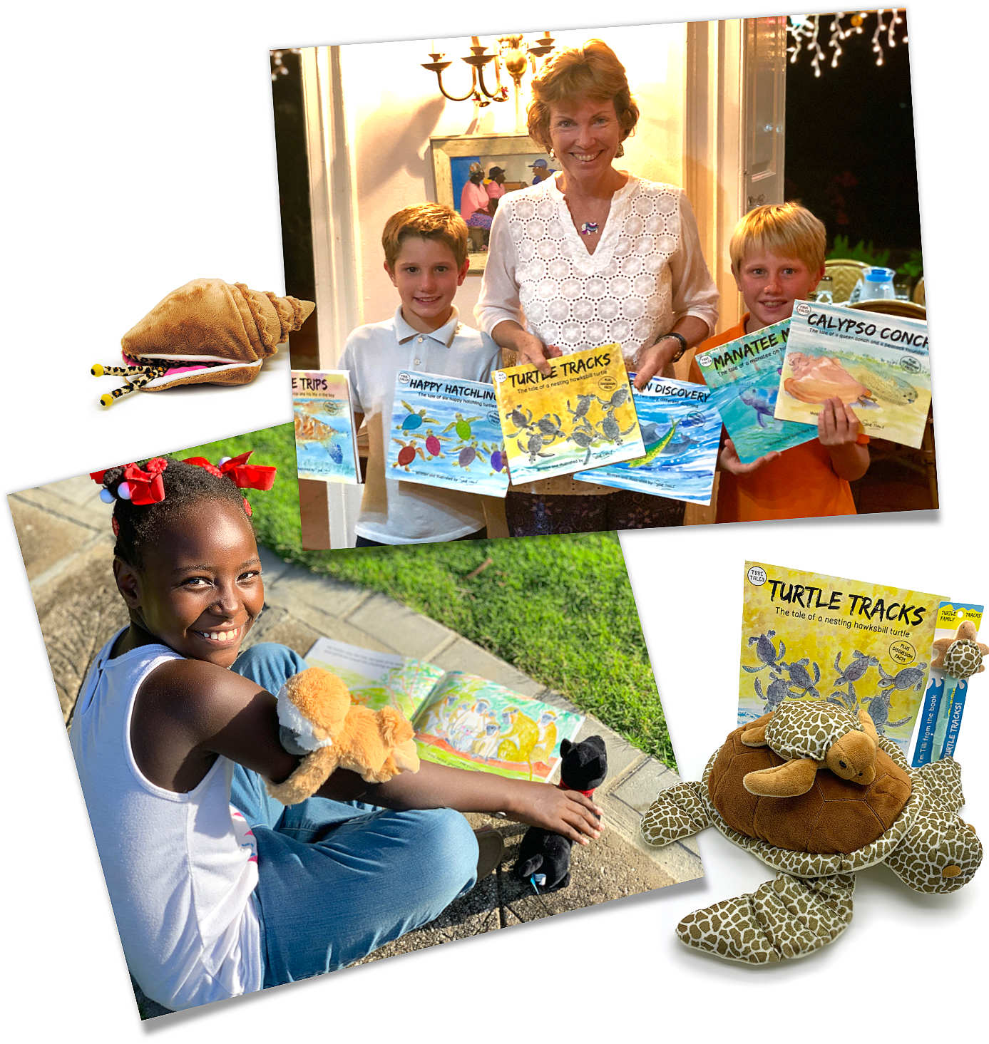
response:
<path fill-rule="evenodd" d="M 279 471 L 270 493 L 250 495 L 259 543 L 424 613 L 676 767 L 614 533 L 304 551 L 290 424 L 176 455 L 215 461 L 248 449 Z"/>

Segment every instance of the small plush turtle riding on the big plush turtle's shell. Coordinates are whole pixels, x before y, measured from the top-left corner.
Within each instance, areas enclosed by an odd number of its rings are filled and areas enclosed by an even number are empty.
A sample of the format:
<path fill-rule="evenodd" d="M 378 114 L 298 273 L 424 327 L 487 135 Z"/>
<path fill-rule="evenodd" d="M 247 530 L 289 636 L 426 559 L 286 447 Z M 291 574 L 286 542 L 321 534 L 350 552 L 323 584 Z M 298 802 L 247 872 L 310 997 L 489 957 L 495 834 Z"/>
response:
<path fill-rule="evenodd" d="M 741 734 L 746 746 L 768 746 L 786 761 L 743 779 L 749 793 L 794 798 L 813 786 L 819 768 L 865 786 L 875 779 L 879 737 L 865 711 L 853 717 L 823 701 L 787 699 Z"/>

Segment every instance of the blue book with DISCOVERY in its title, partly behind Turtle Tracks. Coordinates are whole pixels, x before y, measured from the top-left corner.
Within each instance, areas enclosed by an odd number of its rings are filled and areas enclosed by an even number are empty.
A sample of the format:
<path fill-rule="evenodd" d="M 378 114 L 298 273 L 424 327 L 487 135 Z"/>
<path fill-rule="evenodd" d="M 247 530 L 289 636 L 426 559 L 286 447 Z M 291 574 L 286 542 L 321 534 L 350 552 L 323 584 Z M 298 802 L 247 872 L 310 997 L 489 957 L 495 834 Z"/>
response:
<path fill-rule="evenodd" d="M 630 375 L 634 376 L 634 375 Z M 582 482 L 636 490 L 709 504 L 722 421 L 701 384 L 654 377 L 632 402 L 645 452 L 640 457 L 579 472 Z"/>

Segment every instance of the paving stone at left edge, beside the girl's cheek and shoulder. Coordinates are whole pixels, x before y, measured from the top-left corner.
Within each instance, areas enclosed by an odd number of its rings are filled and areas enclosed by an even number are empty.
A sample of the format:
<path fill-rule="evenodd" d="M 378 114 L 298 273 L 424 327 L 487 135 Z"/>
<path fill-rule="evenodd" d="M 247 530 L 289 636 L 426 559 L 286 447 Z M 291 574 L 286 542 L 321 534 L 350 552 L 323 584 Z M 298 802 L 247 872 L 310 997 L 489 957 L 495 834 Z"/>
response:
<path fill-rule="evenodd" d="M 110 548 L 100 542 L 34 592 L 38 619 L 66 721 L 93 658 L 127 622 L 110 563 Z"/>

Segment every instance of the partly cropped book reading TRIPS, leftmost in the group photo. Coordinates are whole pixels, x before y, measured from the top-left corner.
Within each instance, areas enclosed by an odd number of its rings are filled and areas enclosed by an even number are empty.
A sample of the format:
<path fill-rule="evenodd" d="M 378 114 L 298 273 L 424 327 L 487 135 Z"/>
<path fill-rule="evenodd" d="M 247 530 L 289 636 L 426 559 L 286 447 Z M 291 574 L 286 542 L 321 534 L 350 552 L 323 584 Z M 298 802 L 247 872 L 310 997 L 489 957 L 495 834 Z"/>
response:
<path fill-rule="evenodd" d="M 346 370 L 293 370 L 291 384 L 299 477 L 359 484 L 350 374 Z"/>

